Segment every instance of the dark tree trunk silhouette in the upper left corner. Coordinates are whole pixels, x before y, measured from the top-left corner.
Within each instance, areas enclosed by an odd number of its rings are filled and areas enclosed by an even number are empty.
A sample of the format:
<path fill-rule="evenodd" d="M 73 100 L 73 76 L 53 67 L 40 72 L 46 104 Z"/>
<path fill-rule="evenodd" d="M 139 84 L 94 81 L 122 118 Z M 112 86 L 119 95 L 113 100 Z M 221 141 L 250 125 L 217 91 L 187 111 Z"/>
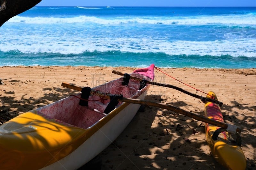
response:
<path fill-rule="evenodd" d="M 0 0 L 0 26 L 10 18 L 29 10 L 42 0 Z"/>

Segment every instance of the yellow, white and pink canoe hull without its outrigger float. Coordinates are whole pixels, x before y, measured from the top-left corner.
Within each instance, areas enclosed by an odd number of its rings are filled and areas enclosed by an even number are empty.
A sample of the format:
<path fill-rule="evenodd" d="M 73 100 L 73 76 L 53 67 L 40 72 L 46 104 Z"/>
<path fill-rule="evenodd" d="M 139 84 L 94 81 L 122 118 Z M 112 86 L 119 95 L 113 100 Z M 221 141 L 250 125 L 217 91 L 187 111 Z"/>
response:
<path fill-rule="evenodd" d="M 131 74 L 154 79 L 154 64 Z M 111 144 L 140 105 L 116 95 L 144 99 L 150 84 L 123 78 L 21 114 L 0 126 L 1 169 L 77 169 Z M 110 99 L 91 94 L 111 94 Z"/>

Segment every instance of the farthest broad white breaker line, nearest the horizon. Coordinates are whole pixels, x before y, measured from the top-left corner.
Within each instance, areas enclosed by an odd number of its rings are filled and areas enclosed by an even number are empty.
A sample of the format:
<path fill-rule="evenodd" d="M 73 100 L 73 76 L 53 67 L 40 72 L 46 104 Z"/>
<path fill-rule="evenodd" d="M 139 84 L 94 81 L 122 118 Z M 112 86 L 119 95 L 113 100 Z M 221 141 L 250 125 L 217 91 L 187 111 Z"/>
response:
<path fill-rule="evenodd" d="M 53 23 L 87 23 L 96 24 L 164 24 L 164 25 L 209 25 L 209 24 L 231 24 L 231 25 L 256 25 L 255 15 L 237 16 L 196 16 L 196 17 L 136 17 L 122 18 L 98 18 L 91 16 L 77 16 L 72 18 L 59 17 L 20 17 L 15 16 L 8 22 L 32 23 L 32 24 L 53 24 Z"/>

